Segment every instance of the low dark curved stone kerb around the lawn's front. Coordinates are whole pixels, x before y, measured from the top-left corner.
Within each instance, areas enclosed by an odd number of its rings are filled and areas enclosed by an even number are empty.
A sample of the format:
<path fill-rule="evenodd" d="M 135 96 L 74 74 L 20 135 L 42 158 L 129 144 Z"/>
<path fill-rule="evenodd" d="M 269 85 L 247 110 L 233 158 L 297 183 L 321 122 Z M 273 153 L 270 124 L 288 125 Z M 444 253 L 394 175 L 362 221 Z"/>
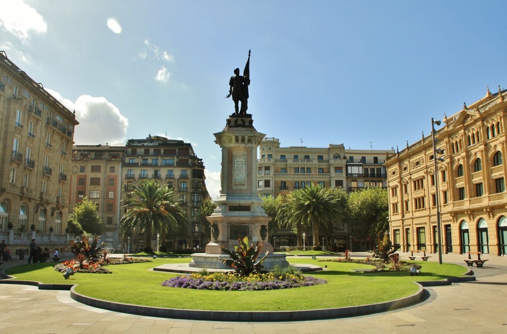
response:
<path fill-rule="evenodd" d="M 472 273 L 469 271 L 465 275 Z M 5 275 L 2 270 L 2 277 L 13 278 Z M 20 280 L 0 280 L 0 284 L 23 284 L 38 286 L 41 290 L 70 290 L 70 298 L 96 308 L 129 313 L 140 316 L 150 316 L 159 318 L 188 319 L 188 320 L 208 320 L 208 321 L 303 321 L 303 320 L 320 320 L 330 318 L 344 318 L 351 316 L 367 315 L 372 313 L 381 313 L 408 307 L 421 302 L 424 295 L 424 287 L 451 285 L 453 282 L 475 281 L 475 276 L 455 277 L 443 281 L 416 281 L 419 289 L 416 293 L 396 299 L 393 301 L 368 304 L 332 309 L 315 309 L 315 310 L 295 310 L 295 311 L 212 311 L 212 310 L 188 310 L 188 309 L 169 309 L 151 306 L 121 304 L 116 302 L 104 301 L 88 297 L 75 291 L 77 284 L 44 284 L 35 281 Z"/>

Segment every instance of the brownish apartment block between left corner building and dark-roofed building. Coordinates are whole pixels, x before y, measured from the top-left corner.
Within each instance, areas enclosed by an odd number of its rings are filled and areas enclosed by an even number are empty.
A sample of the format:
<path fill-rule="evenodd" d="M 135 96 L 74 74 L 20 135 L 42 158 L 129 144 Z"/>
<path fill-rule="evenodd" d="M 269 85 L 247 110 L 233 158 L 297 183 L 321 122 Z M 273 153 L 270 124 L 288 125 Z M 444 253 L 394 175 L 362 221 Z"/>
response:
<path fill-rule="evenodd" d="M 121 249 L 122 161 L 125 145 L 74 145 L 70 175 L 70 207 L 88 197 L 97 204 L 104 231 L 104 247 Z"/>

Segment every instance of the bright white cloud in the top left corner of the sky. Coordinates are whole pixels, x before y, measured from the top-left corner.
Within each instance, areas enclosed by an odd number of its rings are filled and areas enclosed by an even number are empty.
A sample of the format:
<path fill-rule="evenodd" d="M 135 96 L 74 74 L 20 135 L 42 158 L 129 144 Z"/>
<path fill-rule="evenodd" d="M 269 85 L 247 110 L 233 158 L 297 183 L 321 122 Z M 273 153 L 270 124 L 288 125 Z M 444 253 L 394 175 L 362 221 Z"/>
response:
<path fill-rule="evenodd" d="M 30 30 L 44 33 L 48 25 L 41 14 L 22 0 L 5 1 L 0 10 L 0 26 L 17 38 L 26 42 Z"/>

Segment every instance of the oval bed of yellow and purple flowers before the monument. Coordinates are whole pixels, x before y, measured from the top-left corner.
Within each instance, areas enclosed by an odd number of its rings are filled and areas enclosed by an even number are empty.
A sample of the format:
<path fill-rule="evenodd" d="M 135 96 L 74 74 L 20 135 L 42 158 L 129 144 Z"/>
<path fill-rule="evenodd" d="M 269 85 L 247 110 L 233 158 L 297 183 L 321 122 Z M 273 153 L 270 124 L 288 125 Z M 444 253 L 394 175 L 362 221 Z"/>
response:
<path fill-rule="evenodd" d="M 166 280 L 162 286 L 198 290 L 262 291 L 324 284 L 327 281 L 299 273 L 266 273 L 239 276 L 233 273 L 191 274 Z"/>

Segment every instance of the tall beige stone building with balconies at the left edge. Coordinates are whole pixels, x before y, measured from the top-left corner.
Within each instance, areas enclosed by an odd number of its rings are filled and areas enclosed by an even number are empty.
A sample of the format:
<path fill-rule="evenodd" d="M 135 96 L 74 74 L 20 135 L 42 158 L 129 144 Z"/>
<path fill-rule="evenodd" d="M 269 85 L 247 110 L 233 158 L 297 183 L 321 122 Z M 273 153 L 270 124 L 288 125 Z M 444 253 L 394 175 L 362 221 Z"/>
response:
<path fill-rule="evenodd" d="M 0 239 L 66 246 L 75 114 L 2 51 L 0 120 Z"/>

